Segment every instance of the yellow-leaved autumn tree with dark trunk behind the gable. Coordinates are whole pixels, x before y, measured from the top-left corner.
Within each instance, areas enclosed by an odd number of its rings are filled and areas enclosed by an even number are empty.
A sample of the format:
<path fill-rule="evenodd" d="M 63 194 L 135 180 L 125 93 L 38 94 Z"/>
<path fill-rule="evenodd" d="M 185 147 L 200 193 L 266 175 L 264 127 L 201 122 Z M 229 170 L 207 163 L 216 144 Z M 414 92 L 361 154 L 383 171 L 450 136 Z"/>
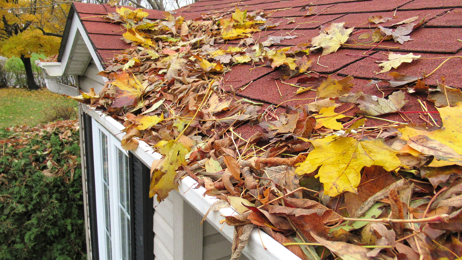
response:
<path fill-rule="evenodd" d="M 38 89 L 30 56 L 55 55 L 72 1 L 0 0 L 0 55 L 20 57 L 27 87 Z"/>

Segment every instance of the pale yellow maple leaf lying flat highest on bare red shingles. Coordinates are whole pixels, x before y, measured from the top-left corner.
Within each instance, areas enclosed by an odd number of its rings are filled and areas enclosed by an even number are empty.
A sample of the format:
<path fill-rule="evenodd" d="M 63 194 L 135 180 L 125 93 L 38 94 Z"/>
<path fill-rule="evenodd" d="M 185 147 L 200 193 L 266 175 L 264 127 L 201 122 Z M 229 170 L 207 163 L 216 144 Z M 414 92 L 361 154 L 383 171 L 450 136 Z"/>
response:
<path fill-rule="evenodd" d="M 328 55 L 331 52 L 336 52 L 342 43 L 350 37 L 354 27 L 345 29 L 345 23 L 332 23 L 324 31 L 321 31 L 318 36 L 311 39 L 311 44 L 314 47 L 322 47 L 322 55 Z M 313 50 L 313 48 L 311 48 Z"/>

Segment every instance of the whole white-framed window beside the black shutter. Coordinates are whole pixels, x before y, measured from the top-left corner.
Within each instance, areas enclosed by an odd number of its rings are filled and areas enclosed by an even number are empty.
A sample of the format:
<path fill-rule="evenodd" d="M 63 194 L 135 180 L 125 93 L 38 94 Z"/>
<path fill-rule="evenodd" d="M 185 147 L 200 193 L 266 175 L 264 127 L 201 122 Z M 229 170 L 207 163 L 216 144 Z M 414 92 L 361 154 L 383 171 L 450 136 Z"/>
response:
<path fill-rule="evenodd" d="M 132 259 L 131 179 L 127 151 L 92 120 L 100 260 Z"/>

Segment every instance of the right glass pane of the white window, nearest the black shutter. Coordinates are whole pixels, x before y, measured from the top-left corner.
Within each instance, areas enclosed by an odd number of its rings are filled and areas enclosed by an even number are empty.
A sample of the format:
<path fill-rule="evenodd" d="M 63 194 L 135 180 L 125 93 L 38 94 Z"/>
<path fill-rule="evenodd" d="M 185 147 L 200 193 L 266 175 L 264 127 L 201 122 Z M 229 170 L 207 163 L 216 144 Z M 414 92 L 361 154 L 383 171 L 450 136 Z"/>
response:
<path fill-rule="evenodd" d="M 120 188 L 120 223 L 121 223 L 121 244 L 122 260 L 130 260 L 131 238 L 130 238 L 130 175 L 128 169 L 128 156 L 117 149 L 119 161 L 119 188 Z"/>

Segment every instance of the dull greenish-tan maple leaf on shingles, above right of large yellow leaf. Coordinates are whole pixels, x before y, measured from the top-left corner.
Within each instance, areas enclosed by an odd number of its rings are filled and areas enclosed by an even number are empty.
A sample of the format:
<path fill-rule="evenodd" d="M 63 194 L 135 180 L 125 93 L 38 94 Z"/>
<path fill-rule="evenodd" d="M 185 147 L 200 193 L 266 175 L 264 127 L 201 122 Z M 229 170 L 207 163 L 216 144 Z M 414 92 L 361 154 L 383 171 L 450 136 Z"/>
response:
<path fill-rule="evenodd" d="M 395 113 L 401 111 L 401 107 L 406 104 L 404 100 L 404 93 L 396 91 L 392 93 L 387 99 L 377 98 L 377 101 L 356 101 L 359 108 L 359 113 L 367 116 L 378 116 L 388 113 Z"/>

